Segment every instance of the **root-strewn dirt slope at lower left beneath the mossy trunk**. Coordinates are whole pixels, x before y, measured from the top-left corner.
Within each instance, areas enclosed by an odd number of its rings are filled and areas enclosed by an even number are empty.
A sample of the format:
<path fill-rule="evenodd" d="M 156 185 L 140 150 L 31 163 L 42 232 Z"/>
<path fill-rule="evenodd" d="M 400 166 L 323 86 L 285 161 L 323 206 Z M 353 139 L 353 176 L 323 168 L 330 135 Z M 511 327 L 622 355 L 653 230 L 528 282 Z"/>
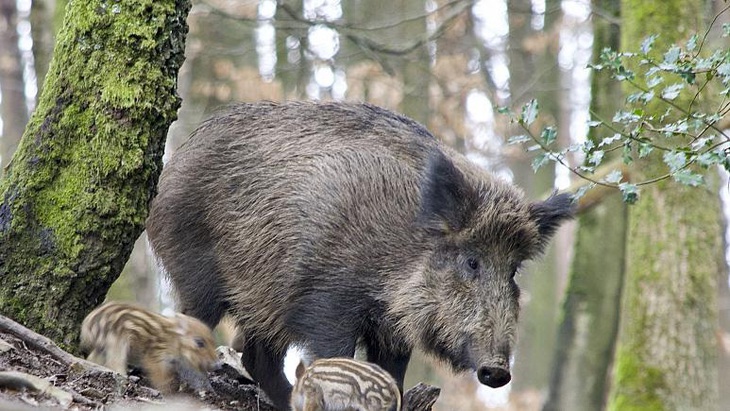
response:
<path fill-rule="evenodd" d="M 274 410 L 256 386 L 227 366 L 210 374 L 214 392 L 163 397 L 143 376 L 125 378 L 88 364 L 66 364 L 0 331 L 0 411 Z"/>

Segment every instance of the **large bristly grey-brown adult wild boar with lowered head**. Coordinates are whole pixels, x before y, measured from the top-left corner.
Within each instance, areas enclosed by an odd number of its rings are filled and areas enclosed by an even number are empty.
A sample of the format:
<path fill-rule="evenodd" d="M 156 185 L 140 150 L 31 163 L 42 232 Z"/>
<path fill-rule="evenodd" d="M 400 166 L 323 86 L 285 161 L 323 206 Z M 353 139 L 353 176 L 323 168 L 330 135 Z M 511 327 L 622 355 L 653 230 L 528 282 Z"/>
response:
<path fill-rule="evenodd" d="M 515 272 L 572 213 L 527 202 L 413 120 L 368 104 L 238 104 L 165 166 L 147 231 L 180 309 L 235 318 L 243 365 L 288 408 L 290 344 L 402 389 L 411 350 L 510 381 Z"/>

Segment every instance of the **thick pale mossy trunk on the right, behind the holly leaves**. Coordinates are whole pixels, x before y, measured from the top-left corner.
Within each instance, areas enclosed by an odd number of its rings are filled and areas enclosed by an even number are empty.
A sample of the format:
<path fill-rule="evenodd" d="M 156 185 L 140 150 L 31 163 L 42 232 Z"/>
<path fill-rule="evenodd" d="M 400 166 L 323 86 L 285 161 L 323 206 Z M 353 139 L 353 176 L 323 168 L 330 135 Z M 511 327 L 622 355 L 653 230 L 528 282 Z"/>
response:
<path fill-rule="evenodd" d="M 704 32 L 702 0 L 622 0 L 622 48 L 638 50 L 650 33 L 657 48 Z M 632 90 L 634 91 L 634 90 Z M 664 113 L 664 108 L 647 107 Z M 636 164 L 632 178 L 663 173 L 661 155 Z M 664 180 L 629 208 L 626 277 L 611 410 L 717 409 L 720 205 L 715 187 Z"/>

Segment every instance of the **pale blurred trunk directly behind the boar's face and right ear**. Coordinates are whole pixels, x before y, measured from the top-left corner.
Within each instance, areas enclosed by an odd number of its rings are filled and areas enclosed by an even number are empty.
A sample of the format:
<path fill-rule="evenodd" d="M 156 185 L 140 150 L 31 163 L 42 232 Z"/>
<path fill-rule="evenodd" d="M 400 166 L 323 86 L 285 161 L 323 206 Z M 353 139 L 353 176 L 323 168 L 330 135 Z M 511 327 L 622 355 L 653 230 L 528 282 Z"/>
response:
<path fill-rule="evenodd" d="M 548 1 L 547 5 L 553 3 Z M 519 111 L 519 107 L 537 94 L 541 107 L 538 123 L 541 125 L 555 124 L 555 119 L 560 118 L 559 105 L 552 103 L 561 99 L 557 48 L 546 47 L 538 52 L 527 45 L 549 36 L 554 30 L 555 23 L 560 20 L 560 8 L 555 7 L 553 10 L 555 13 L 546 14 L 542 30 L 536 31 L 531 27 L 534 16 L 532 3 L 526 0 L 508 2 L 511 105 Z M 540 86 L 536 87 L 536 84 Z M 567 126 L 564 129 L 567 130 Z M 527 153 L 509 158 L 509 166 L 515 183 L 525 190 L 528 197 L 540 198 L 553 190 L 554 167 L 543 167 L 536 173 L 531 166 L 531 156 Z M 513 381 L 518 391 L 543 390 L 548 385 L 560 305 L 557 263 L 556 247 L 551 245 L 543 257 L 527 265 L 524 274 L 518 276 L 518 283 L 524 295 L 528 296 L 524 299 L 520 315 L 514 364 Z"/>

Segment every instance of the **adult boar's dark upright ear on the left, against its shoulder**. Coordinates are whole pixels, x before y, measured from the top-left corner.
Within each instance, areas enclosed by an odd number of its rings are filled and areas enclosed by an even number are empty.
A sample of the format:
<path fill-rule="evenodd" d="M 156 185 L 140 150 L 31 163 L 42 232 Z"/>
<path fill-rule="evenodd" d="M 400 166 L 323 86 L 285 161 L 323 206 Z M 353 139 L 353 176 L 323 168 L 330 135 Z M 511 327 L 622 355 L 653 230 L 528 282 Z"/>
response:
<path fill-rule="evenodd" d="M 442 234 L 460 231 L 468 224 L 477 204 L 476 191 L 454 163 L 443 153 L 432 155 L 421 190 L 421 224 Z"/>

